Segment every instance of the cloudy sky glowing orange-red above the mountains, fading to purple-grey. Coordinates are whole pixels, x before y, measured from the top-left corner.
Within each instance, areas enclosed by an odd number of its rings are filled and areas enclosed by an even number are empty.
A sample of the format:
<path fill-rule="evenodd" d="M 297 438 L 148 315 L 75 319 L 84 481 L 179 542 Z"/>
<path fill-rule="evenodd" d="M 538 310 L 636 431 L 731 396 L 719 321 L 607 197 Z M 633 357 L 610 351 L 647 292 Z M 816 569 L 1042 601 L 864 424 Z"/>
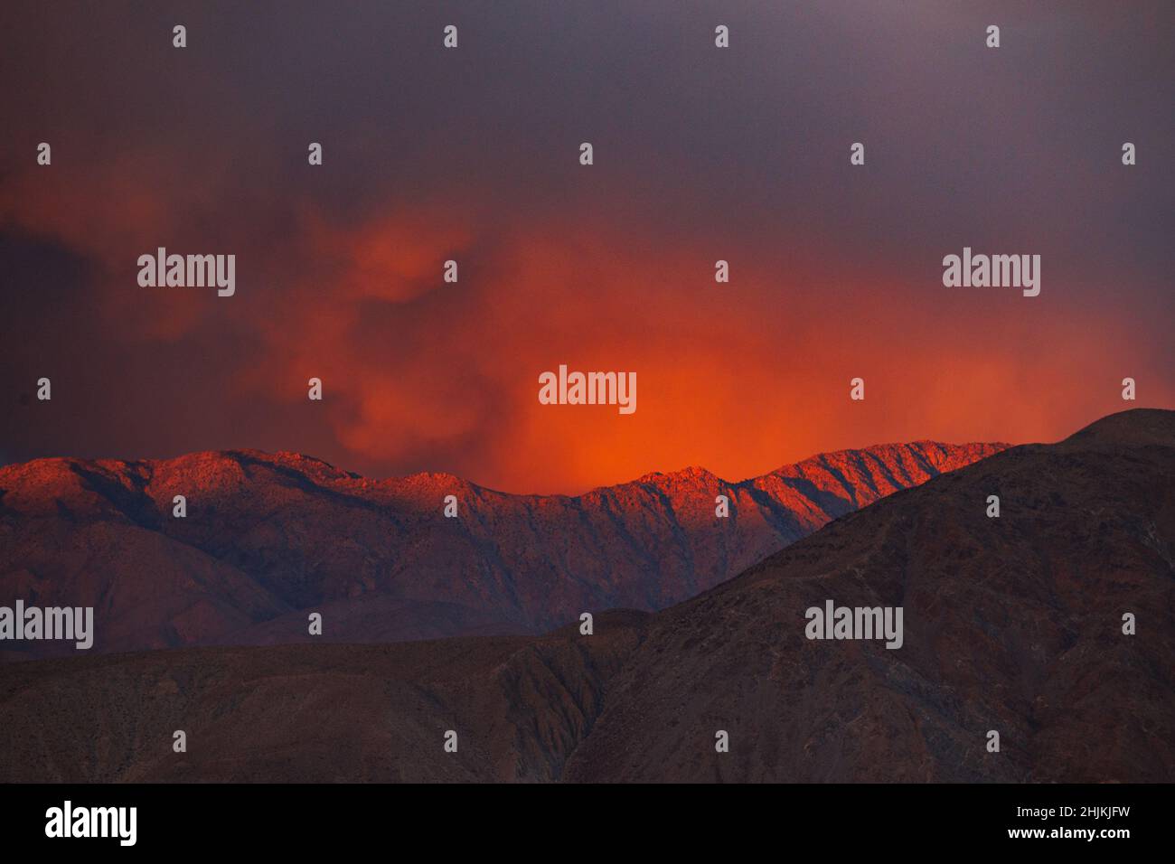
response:
<path fill-rule="evenodd" d="M 577 494 L 1175 408 L 1171 32 L 1170 2 L 5 2 L 0 463 Z M 235 295 L 140 287 L 157 247 L 234 254 Z M 1039 254 L 1040 296 L 944 287 L 964 247 Z M 563 363 L 636 371 L 636 413 L 540 404 Z"/>

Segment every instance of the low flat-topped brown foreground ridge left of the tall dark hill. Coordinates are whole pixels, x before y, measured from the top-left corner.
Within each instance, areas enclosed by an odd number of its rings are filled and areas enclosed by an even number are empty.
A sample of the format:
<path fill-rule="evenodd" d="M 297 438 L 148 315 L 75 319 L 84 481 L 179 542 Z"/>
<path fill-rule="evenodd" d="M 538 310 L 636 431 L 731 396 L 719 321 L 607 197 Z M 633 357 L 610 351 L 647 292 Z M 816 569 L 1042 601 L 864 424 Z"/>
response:
<path fill-rule="evenodd" d="M 0 782 L 551 781 L 644 617 L 605 612 L 590 642 L 569 629 L 9 663 Z"/>

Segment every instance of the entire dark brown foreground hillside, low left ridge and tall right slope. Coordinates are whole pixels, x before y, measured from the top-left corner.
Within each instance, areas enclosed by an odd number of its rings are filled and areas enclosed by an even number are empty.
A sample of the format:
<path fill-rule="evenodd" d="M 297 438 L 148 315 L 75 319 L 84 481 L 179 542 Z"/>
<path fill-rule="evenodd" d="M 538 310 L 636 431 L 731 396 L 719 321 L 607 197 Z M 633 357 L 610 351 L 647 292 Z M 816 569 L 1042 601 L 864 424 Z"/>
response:
<path fill-rule="evenodd" d="M 805 638 L 827 600 L 902 607 L 902 647 Z M 1135 410 L 592 636 L 8 664 L 0 781 L 1171 782 L 1173 656 L 1175 413 Z"/>

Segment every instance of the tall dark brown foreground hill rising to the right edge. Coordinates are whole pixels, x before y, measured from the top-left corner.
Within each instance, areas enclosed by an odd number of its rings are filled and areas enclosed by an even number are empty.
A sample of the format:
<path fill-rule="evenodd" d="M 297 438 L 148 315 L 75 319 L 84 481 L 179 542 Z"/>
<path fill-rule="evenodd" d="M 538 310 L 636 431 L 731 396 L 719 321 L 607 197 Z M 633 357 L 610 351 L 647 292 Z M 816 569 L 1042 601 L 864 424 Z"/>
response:
<path fill-rule="evenodd" d="M 827 600 L 902 607 L 904 645 L 805 638 Z M 1173 657 L 1175 414 L 1135 410 L 895 494 L 656 616 L 566 776 L 1170 782 Z"/>

